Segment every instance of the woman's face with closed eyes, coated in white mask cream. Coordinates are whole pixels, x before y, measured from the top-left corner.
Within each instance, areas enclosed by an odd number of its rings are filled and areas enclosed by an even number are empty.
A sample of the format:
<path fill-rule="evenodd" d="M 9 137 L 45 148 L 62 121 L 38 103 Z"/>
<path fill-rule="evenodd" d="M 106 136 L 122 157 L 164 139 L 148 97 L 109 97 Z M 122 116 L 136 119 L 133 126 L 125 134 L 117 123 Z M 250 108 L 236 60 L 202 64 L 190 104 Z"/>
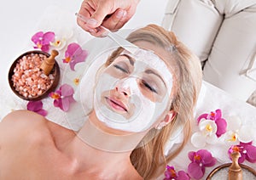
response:
<path fill-rule="evenodd" d="M 123 52 L 98 76 L 96 116 L 107 127 L 143 132 L 170 108 L 171 92 L 172 73 L 162 59 L 143 49 Z"/>

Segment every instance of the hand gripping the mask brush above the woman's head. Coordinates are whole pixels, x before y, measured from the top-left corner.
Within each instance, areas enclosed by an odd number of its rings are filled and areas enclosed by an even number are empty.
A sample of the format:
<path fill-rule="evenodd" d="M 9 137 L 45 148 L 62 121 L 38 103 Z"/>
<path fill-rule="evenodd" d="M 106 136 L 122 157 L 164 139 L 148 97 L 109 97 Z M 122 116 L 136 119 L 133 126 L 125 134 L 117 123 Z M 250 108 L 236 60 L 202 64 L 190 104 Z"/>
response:
<path fill-rule="evenodd" d="M 77 20 L 78 24 L 95 37 L 104 36 L 100 25 L 110 31 L 118 31 L 135 14 L 139 0 L 84 0 L 79 14 L 88 20 Z"/>

